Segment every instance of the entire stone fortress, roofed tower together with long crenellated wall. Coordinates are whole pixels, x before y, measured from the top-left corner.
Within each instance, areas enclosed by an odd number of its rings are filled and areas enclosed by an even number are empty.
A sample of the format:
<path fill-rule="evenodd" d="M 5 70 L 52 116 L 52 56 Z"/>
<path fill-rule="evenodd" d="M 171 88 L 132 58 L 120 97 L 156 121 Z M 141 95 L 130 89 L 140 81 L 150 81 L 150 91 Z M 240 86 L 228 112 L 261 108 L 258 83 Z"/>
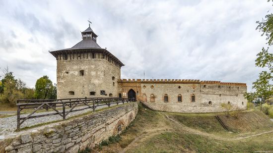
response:
<path fill-rule="evenodd" d="M 97 43 L 89 27 L 69 49 L 50 51 L 57 59 L 58 99 L 136 98 L 161 111 L 218 112 L 220 104 L 246 109 L 245 83 L 180 79 L 121 79 L 124 64 Z"/>

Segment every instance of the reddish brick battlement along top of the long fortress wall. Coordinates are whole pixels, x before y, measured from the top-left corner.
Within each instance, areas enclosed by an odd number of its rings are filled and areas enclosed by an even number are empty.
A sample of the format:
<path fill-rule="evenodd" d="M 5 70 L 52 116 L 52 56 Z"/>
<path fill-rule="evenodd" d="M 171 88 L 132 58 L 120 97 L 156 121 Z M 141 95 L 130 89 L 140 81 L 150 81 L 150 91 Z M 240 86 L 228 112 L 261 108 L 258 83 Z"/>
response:
<path fill-rule="evenodd" d="M 118 79 L 119 83 L 195 83 L 195 84 L 218 84 L 218 85 L 235 85 L 246 86 L 245 83 L 232 83 L 221 81 L 200 81 L 191 79 Z"/>

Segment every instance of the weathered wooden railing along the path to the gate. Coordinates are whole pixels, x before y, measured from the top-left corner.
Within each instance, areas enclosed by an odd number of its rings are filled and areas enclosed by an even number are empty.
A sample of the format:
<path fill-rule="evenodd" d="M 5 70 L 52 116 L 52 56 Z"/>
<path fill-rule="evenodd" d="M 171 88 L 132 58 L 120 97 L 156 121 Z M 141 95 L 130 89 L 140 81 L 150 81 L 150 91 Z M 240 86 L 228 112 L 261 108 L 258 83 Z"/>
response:
<path fill-rule="evenodd" d="M 63 120 L 66 119 L 70 112 L 80 111 L 91 108 L 93 112 L 98 106 L 106 105 L 108 107 L 111 104 L 136 102 L 134 98 L 77 98 L 77 99 L 55 99 L 55 100 L 17 100 L 17 130 L 27 120 L 31 118 L 45 117 L 51 115 L 60 115 Z M 82 106 L 82 107 L 76 107 Z M 86 107 L 83 107 L 86 106 Z M 53 112 L 46 114 L 36 114 L 41 109 L 52 109 Z M 34 109 L 26 117 L 21 117 L 20 113 L 24 109 Z M 66 110 L 67 109 L 67 110 Z"/>

